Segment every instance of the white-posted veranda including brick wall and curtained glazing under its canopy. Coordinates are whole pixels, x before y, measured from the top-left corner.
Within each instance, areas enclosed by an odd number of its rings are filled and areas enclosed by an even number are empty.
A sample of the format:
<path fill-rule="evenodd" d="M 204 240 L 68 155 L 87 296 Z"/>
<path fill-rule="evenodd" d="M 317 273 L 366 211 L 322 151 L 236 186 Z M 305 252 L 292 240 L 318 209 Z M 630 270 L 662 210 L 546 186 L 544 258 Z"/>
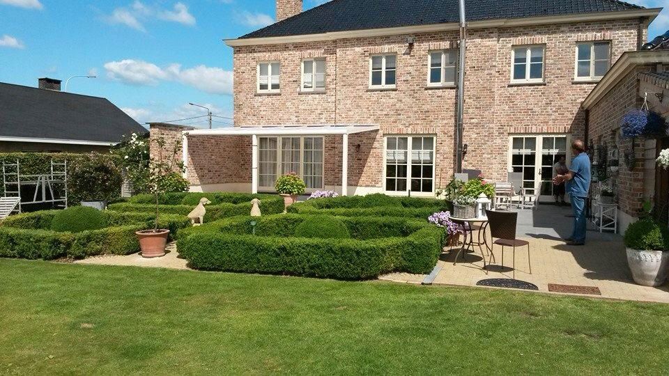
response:
<path fill-rule="evenodd" d="M 364 132 L 378 132 L 378 125 L 263 125 L 220 128 L 213 130 L 183 130 L 182 158 L 186 166 L 184 178 L 191 182 L 200 182 L 199 171 L 207 171 L 213 178 L 225 181 L 231 174 L 230 170 L 245 169 L 250 162 L 250 191 L 253 194 L 259 191 L 274 191 L 276 179 L 285 173 L 298 173 L 307 183 L 307 191 L 327 189 L 332 185 L 325 184 L 325 177 L 334 174 L 334 164 L 341 160 L 339 173 L 341 185 L 333 188 L 342 196 L 348 195 L 348 167 L 349 167 L 349 135 Z M 374 136 L 373 136 L 374 137 Z M 248 143 L 250 139 L 250 144 Z M 335 139 L 340 145 L 335 146 Z M 204 166 L 216 164 L 212 159 L 193 159 L 194 148 L 214 148 L 226 152 L 237 159 L 221 161 L 226 166 L 213 174 L 212 169 Z M 339 157 L 328 160 L 335 149 L 341 148 Z M 190 150 L 189 150 L 190 149 Z M 326 155 L 326 150 L 328 153 Z M 250 161 L 248 161 L 250 153 Z M 216 153 L 209 154 L 215 158 Z M 217 169 L 214 169 L 217 170 Z M 236 187 L 226 187 L 227 190 L 246 191 L 246 178 L 238 176 Z M 200 184 L 200 187 L 203 187 Z M 201 188 L 206 191 L 208 189 Z"/>

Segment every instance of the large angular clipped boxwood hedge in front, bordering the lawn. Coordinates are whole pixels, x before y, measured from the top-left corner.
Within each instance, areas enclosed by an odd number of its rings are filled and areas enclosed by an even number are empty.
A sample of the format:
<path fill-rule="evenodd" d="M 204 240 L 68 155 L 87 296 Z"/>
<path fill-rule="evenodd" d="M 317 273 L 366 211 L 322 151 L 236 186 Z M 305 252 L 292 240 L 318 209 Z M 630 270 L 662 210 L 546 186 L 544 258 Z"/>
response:
<path fill-rule="evenodd" d="M 443 229 L 390 217 L 341 217 L 352 239 L 295 237 L 318 216 L 236 217 L 183 230 L 180 256 L 190 267 L 229 272 L 371 279 L 389 272 L 429 273 L 441 253 Z M 256 221 L 256 235 L 251 235 Z"/>

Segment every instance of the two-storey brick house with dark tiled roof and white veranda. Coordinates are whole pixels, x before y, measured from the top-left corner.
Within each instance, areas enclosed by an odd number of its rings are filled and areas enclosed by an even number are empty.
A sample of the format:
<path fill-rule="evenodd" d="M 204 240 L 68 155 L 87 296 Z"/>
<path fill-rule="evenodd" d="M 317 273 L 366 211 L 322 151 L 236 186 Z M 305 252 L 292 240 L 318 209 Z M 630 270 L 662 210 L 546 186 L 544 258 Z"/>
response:
<path fill-rule="evenodd" d="M 552 166 L 585 138 L 581 104 L 647 40 L 660 9 L 615 0 L 467 1 L 463 168 L 523 173 L 552 195 Z M 272 191 L 296 171 L 309 189 L 433 196 L 456 169 L 459 13 L 454 0 L 333 0 L 226 40 L 235 127 L 183 137 L 195 191 Z M 569 161 L 568 161 L 569 162 Z"/>

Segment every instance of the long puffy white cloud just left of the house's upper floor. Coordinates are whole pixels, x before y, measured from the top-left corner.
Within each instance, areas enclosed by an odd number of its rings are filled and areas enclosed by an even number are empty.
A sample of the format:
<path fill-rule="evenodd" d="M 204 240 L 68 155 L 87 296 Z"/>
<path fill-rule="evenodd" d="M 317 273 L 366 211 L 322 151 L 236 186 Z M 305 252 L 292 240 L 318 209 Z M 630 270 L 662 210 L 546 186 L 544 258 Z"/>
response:
<path fill-rule="evenodd" d="M 160 81 L 176 81 L 210 94 L 232 95 L 233 73 L 221 68 L 198 65 L 181 68 L 170 64 L 164 68 L 141 60 L 126 59 L 105 63 L 107 77 L 132 85 L 155 86 Z"/>

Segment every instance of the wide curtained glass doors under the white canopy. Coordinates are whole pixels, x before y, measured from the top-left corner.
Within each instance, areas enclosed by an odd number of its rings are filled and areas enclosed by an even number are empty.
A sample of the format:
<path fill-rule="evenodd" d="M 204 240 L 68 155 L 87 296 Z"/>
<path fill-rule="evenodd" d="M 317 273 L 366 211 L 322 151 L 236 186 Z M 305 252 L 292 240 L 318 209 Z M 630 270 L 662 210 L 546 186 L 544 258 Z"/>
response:
<path fill-rule="evenodd" d="M 291 172 L 305 180 L 307 191 L 323 189 L 323 137 L 258 138 L 258 189 L 275 191 L 277 178 Z"/>

